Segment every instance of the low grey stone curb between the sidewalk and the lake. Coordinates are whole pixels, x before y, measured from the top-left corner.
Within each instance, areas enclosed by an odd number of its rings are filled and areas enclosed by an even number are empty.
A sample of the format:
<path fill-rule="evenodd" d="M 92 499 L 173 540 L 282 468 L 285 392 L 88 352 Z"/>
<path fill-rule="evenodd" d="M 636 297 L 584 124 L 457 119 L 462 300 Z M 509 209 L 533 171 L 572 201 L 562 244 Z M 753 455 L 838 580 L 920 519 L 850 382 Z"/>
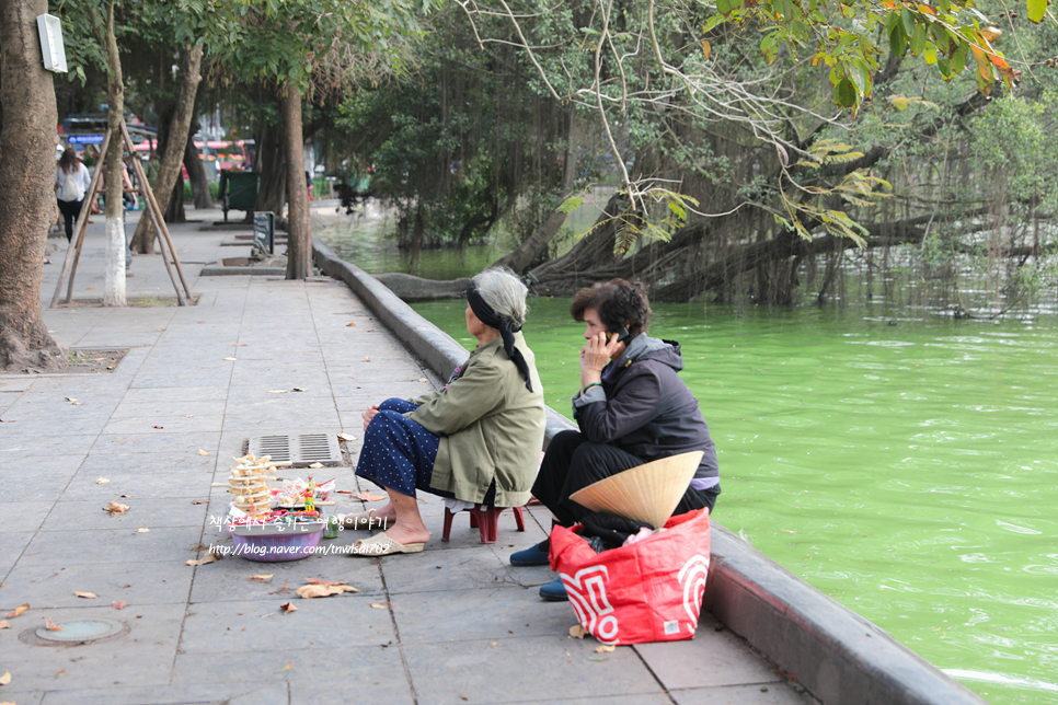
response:
<path fill-rule="evenodd" d="M 317 265 L 345 281 L 416 356 L 447 378 L 467 358 L 449 335 L 312 238 Z M 548 409 L 545 442 L 575 428 Z M 825 705 L 981 705 L 985 701 L 871 621 L 819 592 L 717 522 L 703 606 Z"/>

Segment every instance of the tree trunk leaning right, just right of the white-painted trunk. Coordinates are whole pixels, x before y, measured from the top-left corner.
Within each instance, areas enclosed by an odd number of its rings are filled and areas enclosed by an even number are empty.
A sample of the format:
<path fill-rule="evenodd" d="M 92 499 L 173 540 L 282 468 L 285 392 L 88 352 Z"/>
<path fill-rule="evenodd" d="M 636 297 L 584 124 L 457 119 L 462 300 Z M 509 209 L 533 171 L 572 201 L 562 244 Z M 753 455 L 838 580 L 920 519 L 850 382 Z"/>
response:
<path fill-rule="evenodd" d="M 185 138 L 189 129 L 192 117 L 194 116 L 195 95 L 198 92 L 198 83 L 202 81 L 199 69 L 202 68 L 202 45 L 186 47 L 184 49 L 184 66 L 180 72 L 180 90 L 176 94 L 176 105 L 173 118 L 169 124 L 165 148 L 162 151 L 162 161 L 158 167 L 158 181 L 154 186 L 154 198 L 158 199 L 158 207 L 163 212 L 169 210 L 173 196 L 173 185 L 177 183 L 180 176 L 180 164 L 183 160 Z M 180 180 L 183 181 L 183 180 Z M 184 185 L 180 184 L 180 216 L 183 216 Z M 175 215 L 175 213 L 174 213 Z M 181 222 L 165 217 L 166 222 Z M 154 250 L 153 226 L 150 218 L 146 215 L 140 218 L 139 226 L 136 227 L 136 235 L 133 238 L 133 250 L 142 254 L 150 254 Z"/>

